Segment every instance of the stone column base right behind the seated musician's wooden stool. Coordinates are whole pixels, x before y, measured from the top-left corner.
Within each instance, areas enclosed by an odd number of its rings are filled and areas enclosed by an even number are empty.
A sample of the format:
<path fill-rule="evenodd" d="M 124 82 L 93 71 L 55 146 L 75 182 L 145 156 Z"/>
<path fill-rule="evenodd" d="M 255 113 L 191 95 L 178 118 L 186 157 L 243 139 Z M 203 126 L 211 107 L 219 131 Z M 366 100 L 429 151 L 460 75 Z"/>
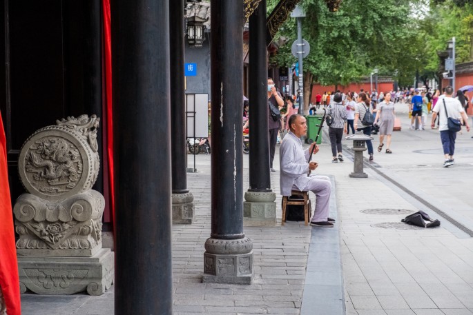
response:
<path fill-rule="evenodd" d="M 243 225 L 274 226 L 276 225 L 276 193 L 245 192 L 243 203 Z"/>

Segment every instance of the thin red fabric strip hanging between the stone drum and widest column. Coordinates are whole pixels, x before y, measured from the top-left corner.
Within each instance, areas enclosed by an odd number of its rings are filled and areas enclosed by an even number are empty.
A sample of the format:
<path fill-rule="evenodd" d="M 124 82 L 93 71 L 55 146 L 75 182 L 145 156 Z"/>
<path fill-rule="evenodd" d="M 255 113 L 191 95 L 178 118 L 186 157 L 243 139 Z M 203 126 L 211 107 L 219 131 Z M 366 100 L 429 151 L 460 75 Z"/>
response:
<path fill-rule="evenodd" d="M 102 1 L 104 12 L 104 61 L 105 61 L 105 90 L 106 90 L 106 132 L 108 155 L 108 185 L 110 192 L 110 212 L 112 223 L 115 225 L 115 188 L 113 183 L 113 109 L 112 109 L 112 34 L 110 21 L 110 0 Z"/>

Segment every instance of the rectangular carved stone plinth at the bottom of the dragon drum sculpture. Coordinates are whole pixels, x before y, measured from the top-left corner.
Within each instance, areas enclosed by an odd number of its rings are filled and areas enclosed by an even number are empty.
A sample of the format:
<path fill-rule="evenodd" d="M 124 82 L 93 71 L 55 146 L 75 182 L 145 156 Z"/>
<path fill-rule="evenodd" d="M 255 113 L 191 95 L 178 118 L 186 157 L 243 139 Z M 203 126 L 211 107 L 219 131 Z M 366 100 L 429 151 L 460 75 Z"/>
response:
<path fill-rule="evenodd" d="M 92 257 L 17 256 L 20 292 L 59 295 L 87 291 L 102 295 L 115 277 L 114 254 L 108 248 Z"/>

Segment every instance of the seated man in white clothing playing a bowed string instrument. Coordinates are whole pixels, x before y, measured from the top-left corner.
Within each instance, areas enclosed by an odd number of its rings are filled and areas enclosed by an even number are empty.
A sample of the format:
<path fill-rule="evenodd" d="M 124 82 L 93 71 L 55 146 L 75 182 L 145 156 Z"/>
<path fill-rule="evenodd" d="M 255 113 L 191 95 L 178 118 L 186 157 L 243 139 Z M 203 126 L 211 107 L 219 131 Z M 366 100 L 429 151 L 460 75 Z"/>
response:
<path fill-rule="evenodd" d="M 329 218 L 329 200 L 331 192 L 330 179 L 327 176 L 309 174 L 309 170 L 316 170 L 318 163 L 307 162 L 313 149 L 316 154 L 319 150 L 316 143 L 309 149 L 302 148 L 300 137 L 307 134 L 307 123 L 304 116 L 293 114 L 289 117 L 289 133 L 284 136 L 280 152 L 280 187 L 282 196 L 291 196 L 291 190 L 311 191 L 316 194 L 316 207 L 313 211 L 311 225 L 319 227 L 333 227 L 334 219 Z"/>

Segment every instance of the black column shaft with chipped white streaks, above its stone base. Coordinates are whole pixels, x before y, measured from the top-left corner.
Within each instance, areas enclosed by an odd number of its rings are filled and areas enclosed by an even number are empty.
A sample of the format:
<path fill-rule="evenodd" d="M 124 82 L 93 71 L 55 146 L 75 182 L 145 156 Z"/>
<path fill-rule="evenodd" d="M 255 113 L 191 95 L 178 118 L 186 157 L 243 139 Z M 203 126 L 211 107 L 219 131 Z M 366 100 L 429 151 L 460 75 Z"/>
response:
<path fill-rule="evenodd" d="M 211 1 L 213 238 L 243 238 L 243 3 Z"/>

